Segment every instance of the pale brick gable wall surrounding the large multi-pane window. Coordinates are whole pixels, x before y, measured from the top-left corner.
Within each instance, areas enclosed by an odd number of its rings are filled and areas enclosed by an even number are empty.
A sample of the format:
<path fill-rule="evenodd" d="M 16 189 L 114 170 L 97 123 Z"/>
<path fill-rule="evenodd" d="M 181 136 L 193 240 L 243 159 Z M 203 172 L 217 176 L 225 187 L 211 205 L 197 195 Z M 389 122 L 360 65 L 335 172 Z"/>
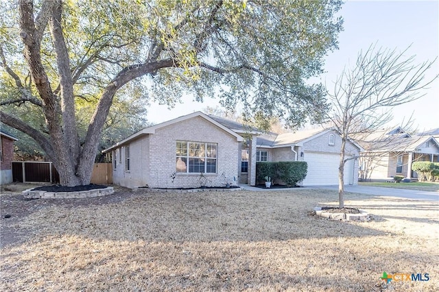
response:
<path fill-rule="evenodd" d="M 199 187 L 200 173 L 176 173 L 172 183 L 171 174 L 176 171 L 176 141 L 217 143 L 217 173 L 204 173 L 208 179 L 206 186 L 223 186 L 224 176 L 229 182 L 233 182 L 234 177 L 237 179 L 239 143 L 236 137 L 202 117 L 193 117 L 130 143 L 131 170 L 124 171 L 123 149 L 122 165 L 113 171 L 114 183 L 130 188 L 146 184 L 150 188 Z"/>

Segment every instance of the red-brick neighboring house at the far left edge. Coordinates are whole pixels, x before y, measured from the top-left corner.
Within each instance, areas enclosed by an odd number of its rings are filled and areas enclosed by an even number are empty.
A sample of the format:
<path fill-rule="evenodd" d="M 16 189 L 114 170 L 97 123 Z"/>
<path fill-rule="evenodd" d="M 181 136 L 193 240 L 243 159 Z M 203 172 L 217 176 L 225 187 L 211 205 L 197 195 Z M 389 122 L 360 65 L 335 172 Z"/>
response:
<path fill-rule="evenodd" d="M 12 160 L 14 159 L 14 142 L 19 139 L 5 132 L 0 132 L 0 169 L 1 184 L 12 182 Z"/>

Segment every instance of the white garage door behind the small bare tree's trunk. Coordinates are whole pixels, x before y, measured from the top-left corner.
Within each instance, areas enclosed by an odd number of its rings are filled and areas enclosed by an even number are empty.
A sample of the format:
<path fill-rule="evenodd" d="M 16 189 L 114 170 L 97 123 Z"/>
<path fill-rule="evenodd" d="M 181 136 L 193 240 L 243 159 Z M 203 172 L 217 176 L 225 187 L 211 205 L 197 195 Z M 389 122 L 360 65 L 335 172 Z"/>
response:
<path fill-rule="evenodd" d="M 346 156 L 351 158 L 352 156 Z M 324 186 L 338 184 L 339 154 L 305 152 L 308 162 L 308 174 L 303 180 L 304 186 Z M 353 183 L 354 160 L 348 160 L 344 165 L 344 184 Z"/>

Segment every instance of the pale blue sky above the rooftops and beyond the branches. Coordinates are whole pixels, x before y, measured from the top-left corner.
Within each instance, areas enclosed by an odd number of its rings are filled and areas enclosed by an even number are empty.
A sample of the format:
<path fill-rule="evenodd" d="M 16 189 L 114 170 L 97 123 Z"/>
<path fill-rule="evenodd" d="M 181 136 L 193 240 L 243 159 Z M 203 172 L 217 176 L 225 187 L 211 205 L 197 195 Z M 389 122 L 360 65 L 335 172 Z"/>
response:
<path fill-rule="evenodd" d="M 370 45 L 407 50 L 416 56 L 416 64 L 433 61 L 439 56 L 439 1 L 346 1 L 339 13 L 344 19 L 344 31 L 339 34 L 339 50 L 329 52 L 325 73 L 318 78 L 328 86 L 340 75 L 344 66 L 355 64 L 360 50 Z M 431 80 L 439 75 L 439 60 L 425 75 Z M 413 128 L 418 131 L 439 127 L 439 78 L 422 92 L 423 97 L 392 110 L 392 125 L 401 125 L 412 116 Z M 215 99 L 203 103 L 187 96 L 182 104 L 169 110 L 167 106 L 151 104 L 147 113 L 150 123 L 161 123 L 206 106 L 217 106 Z"/>

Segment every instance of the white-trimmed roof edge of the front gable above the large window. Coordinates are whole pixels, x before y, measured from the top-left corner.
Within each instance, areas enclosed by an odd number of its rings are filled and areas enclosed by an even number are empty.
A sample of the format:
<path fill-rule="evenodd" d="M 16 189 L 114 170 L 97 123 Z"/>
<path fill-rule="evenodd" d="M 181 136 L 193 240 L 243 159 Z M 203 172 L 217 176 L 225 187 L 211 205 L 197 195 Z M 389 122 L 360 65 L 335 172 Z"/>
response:
<path fill-rule="evenodd" d="M 123 139 L 122 141 L 116 143 L 115 145 L 112 145 L 111 147 L 109 147 L 107 149 L 104 149 L 102 151 L 102 153 L 109 152 L 112 149 L 115 149 L 117 147 L 120 147 L 121 145 L 127 144 L 130 141 L 133 141 L 133 140 L 135 140 L 137 138 L 140 138 L 141 136 L 145 136 L 145 135 L 148 135 L 148 134 L 156 134 L 156 130 L 161 129 L 162 127 L 167 127 L 168 125 L 173 125 L 175 123 L 180 123 L 182 121 L 186 121 L 186 120 L 192 119 L 194 117 L 202 117 L 203 119 L 205 119 L 209 123 L 213 123 L 213 125 L 219 127 L 224 132 L 227 132 L 231 136 L 234 136 L 237 139 L 238 142 L 241 142 L 241 141 L 244 140 L 241 136 L 239 136 L 239 134 L 237 134 L 236 132 L 233 132 L 233 130 L 230 130 L 228 127 L 225 127 L 221 123 L 218 123 L 217 121 L 215 121 L 214 119 L 209 117 L 207 114 L 204 114 L 202 112 L 193 112 L 191 114 L 187 114 L 185 116 L 178 117 L 176 119 L 171 119 L 171 120 L 165 121 L 163 123 L 158 123 L 157 125 L 152 125 L 151 127 L 145 127 L 145 129 L 140 130 L 139 132 L 136 132 L 136 133 L 132 134 L 128 138 Z"/>

